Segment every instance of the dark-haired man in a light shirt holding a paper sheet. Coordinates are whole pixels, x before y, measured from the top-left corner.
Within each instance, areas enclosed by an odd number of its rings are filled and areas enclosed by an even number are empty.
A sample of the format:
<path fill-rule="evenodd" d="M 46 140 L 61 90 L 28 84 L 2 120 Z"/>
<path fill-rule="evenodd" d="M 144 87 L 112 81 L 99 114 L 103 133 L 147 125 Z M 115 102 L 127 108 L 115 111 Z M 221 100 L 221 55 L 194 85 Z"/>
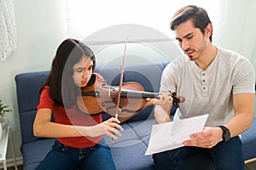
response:
<path fill-rule="evenodd" d="M 174 120 L 209 117 L 206 127 L 191 134 L 183 147 L 154 154 L 155 169 L 244 169 L 239 134 L 253 121 L 253 65 L 240 54 L 212 45 L 212 22 L 203 8 L 179 9 L 171 29 L 186 55 L 166 66 L 160 93 L 172 90 L 186 98 Z M 156 123 L 171 121 L 167 108 L 155 106 Z"/>

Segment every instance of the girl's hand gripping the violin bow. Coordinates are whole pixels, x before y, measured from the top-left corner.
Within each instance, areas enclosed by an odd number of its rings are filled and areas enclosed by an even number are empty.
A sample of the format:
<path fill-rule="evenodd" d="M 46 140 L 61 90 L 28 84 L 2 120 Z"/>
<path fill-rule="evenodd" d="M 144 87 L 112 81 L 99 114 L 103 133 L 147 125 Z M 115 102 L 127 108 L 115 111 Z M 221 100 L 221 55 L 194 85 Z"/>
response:
<path fill-rule="evenodd" d="M 119 125 L 119 120 L 111 117 L 107 121 L 88 127 L 87 136 L 96 137 L 102 134 L 107 134 L 112 139 L 117 139 L 116 135 L 121 136 L 118 129 L 123 131 L 123 127 Z"/>

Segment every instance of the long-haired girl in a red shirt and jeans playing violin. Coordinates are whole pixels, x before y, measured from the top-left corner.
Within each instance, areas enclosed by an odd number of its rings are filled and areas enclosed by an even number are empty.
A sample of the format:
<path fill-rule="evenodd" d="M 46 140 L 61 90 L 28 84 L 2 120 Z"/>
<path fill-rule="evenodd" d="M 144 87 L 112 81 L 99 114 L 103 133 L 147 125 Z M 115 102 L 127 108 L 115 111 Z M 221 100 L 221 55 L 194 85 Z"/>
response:
<path fill-rule="evenodd" d="M 56 140 L 37 169 L 115 169 L 102 135 L 120 136 L 119 120 L 102 122 L 101 115 L 84 114 L 76 105 L 79 89 L 92 83 L 90 77 L 102 78 L 93 74 L 95 64 L 93 52 L 78 40 L 67 39 L 57 49 L 33 125 L 35 136 Z"/>

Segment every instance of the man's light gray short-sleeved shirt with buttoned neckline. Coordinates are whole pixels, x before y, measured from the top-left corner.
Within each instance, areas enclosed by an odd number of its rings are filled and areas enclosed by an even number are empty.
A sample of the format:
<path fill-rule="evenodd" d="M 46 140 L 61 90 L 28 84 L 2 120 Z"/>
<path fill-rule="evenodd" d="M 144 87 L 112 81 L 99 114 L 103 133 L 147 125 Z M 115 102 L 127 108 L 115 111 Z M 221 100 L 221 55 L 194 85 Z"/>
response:
<path fill-rule="evenodd" d="M 187 56 L 166 65 L 160 91 L 176 92 L 185 97 L 174 119 L 209 114 L 206 126 L 225 124 L 234 116 L 233 94 L 254 94 L 255 72 L 249 60 L 224 48 L 207 71 L 199 68 Z"/>

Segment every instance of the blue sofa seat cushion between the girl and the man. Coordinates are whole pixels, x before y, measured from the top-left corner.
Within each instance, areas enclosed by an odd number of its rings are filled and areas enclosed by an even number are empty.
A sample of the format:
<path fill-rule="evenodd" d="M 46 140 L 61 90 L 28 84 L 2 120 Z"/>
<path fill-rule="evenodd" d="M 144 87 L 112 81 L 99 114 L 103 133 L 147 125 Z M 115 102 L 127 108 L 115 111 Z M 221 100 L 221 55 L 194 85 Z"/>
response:
<path fill-rule="evenodd" d="M 153 169 L 152 156 L 144 156 L 153 124 L 154 119 L 152 118 L 137 122 L 125 122 L 121 124 L 124 131 L 120 132 L 122 136 L 119 139 L 113 142 L 108 136 L 104 136 L 111 148 L 117 169 Z M 137 163 L 131 163 L 135 160 Z"/>

